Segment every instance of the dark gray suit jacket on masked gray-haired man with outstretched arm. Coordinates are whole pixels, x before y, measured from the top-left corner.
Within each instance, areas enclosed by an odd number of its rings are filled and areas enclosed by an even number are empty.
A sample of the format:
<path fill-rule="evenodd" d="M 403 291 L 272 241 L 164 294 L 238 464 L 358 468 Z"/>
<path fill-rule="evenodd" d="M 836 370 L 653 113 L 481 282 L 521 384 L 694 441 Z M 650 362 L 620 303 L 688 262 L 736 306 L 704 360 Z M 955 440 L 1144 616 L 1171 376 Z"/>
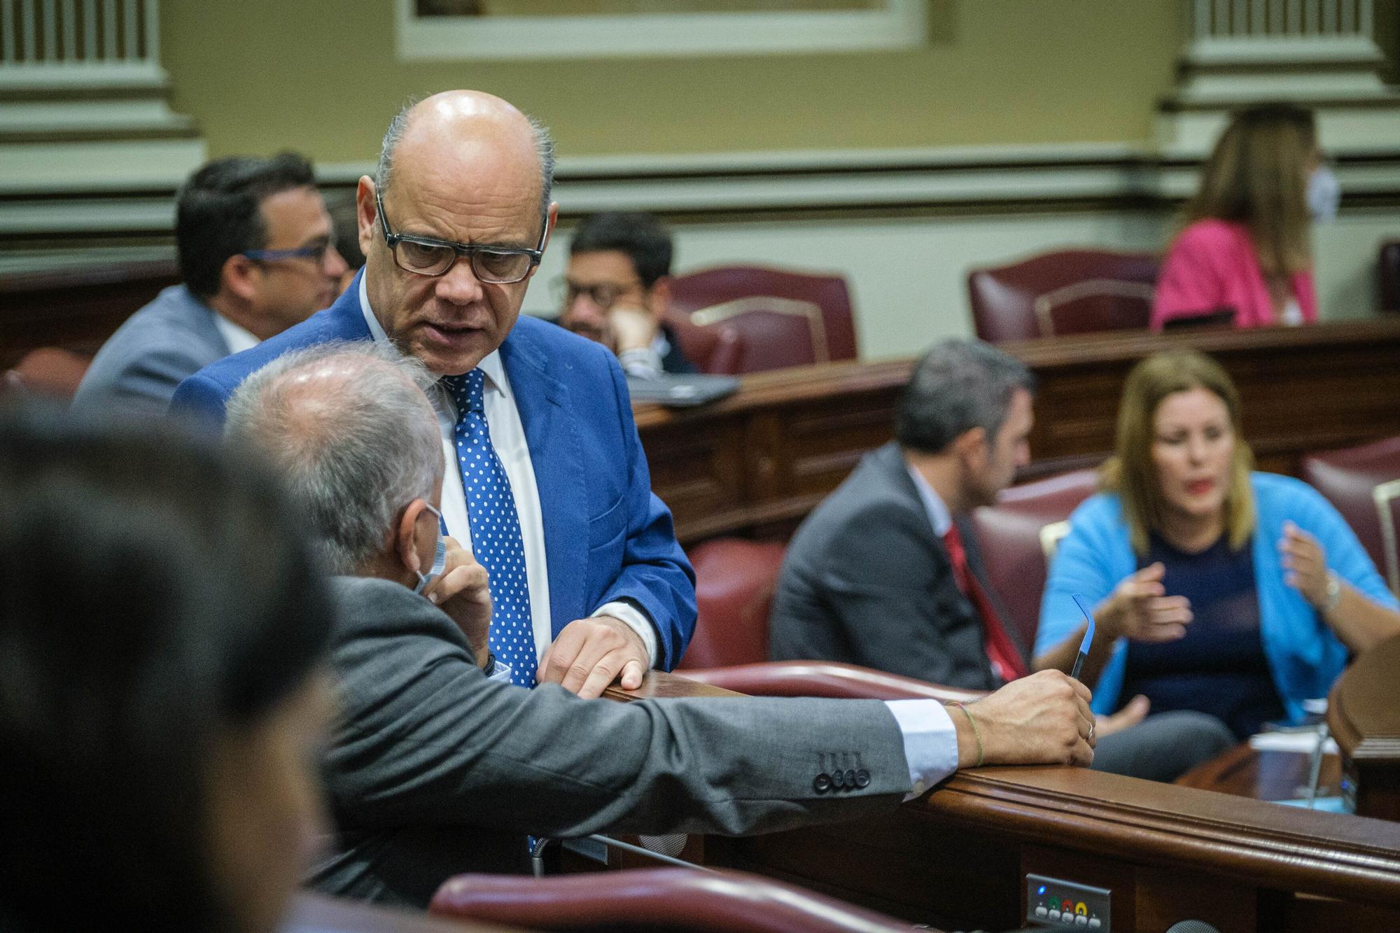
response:
<path fill-rule="evenodd" d="M 581 700 L 487 681 L 456 625 L 406 587 L 337 577 L 343 723 L 326 756 L 342 852 L 314 884 L 426 905 L 461 871 L 525 866 L 525 834 L 771 832 L 909 793 L 876 700 Z M 839 762 L 839 763 L 837 763 Z M 833 768 L 869 786 L 819 793 Z"/>

